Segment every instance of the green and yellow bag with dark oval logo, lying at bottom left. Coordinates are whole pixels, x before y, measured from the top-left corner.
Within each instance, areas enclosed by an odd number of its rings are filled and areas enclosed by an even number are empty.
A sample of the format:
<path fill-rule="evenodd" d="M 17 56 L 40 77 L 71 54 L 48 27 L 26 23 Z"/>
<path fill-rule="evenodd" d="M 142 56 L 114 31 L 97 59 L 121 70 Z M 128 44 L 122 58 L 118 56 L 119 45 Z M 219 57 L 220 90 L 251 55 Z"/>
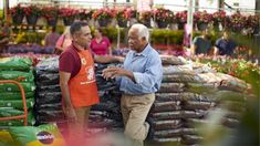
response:
<path fill-rule="evenodd" d="M 65 142 L 54 124 L 10 127 L 12 138 L 23 146 L 64 146 Z"/>

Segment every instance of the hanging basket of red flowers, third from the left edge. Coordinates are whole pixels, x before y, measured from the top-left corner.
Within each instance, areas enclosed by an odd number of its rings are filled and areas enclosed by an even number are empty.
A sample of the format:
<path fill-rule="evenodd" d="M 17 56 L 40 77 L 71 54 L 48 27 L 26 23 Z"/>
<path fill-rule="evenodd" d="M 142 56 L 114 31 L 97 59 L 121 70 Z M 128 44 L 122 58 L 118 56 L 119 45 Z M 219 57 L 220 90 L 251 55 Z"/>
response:
<path fill-rule="evenodd" d="M 56 7 L 44 7 L 42 10 L 48 24 L 56 25 L 59 9 Z"/>

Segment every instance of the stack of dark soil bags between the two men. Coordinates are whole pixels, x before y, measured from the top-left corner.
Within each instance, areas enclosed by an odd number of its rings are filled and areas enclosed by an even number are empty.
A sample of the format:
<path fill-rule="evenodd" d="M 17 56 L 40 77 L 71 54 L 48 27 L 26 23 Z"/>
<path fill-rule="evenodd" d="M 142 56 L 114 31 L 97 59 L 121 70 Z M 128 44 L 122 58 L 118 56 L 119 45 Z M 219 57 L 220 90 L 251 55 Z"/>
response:
<path fill-rule="evenodd" d="M 102 76 L 102 71 L 112 65 L 118 64 L 95 64 L 96 83 L 101 102 L 91 108 L 89 121 L 90 133 L 123 131 L 123 119 L 119 106 L 121 93 L 115 80 L 106 81 Z"/>

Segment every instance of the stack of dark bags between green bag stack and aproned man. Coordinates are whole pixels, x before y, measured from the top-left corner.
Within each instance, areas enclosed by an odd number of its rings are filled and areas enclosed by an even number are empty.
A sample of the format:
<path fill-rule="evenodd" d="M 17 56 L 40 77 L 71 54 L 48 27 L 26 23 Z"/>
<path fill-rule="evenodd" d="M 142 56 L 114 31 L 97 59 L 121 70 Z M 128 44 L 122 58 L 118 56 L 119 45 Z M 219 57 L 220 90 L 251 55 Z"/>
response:
<path fill-rule="evenodd" d="M 62 94 L 59 84 L 59 56 L 49 58 L 37 65 L 37 124 L 66 124 L 62 111 Z"/>

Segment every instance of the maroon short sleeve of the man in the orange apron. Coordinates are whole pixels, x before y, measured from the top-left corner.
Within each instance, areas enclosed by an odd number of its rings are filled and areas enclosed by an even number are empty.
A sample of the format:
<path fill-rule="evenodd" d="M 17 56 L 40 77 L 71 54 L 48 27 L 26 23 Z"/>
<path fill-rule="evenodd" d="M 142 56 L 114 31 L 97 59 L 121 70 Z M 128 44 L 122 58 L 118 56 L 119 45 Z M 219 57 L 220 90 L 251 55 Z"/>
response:
<path fill-rule="evenodd" d="M 62 53 L 59 60 L 59 71 L 72 73 L 74 62 L 74 58 L 70 52 Z"/>

